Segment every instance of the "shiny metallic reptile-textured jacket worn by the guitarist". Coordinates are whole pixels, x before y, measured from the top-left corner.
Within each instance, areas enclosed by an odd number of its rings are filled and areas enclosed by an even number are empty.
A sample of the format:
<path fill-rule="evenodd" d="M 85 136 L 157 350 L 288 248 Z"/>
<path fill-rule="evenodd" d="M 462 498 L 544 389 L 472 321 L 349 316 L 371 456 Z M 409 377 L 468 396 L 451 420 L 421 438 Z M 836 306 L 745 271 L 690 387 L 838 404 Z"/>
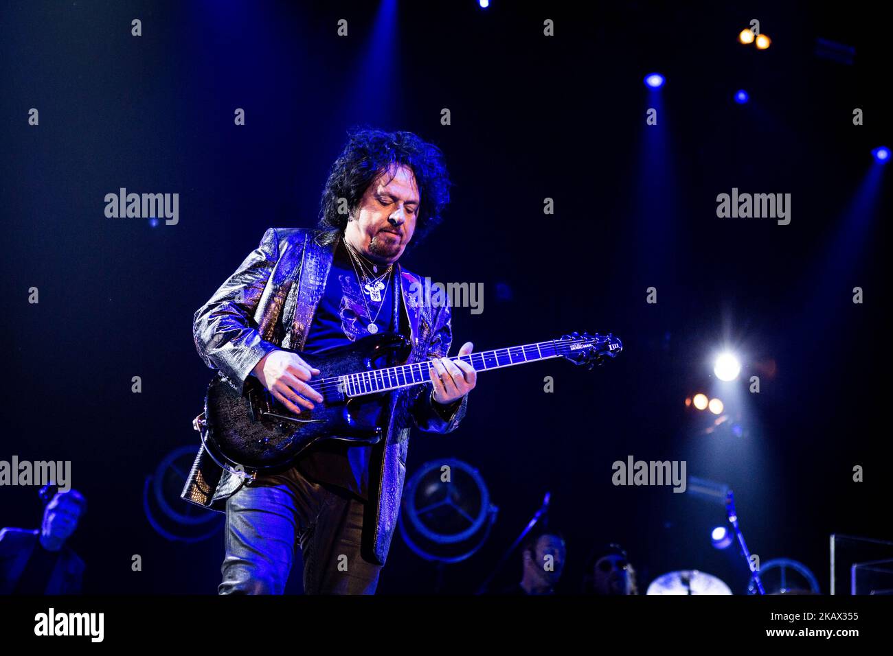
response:
<path fill-rule="evenodd" d="M 278 346 L 300 351 L 325 290 L 340 235 L 338 230 L 269 228 L 255 251 L 196 311 L 193 336 L 205 364 L 220 370 L 241 391 L 264 355 Z M 446 356 L 453 339 L 449 305 L 420 305 L 416 295 L 407 294 L 407 290 L 413 282 L 421 285 L 421 279 L 399 263 L 396 274 L 403 298 L 401 323 L 409 327 L 413 345 L 408 362 Z M 466 394 L 461 403 L 441 406 L 438 411 L 428 385 L 389 394 L 388 430 L 380 444 L 384 450 L 381 470 L 378 476 L 371 473 L 370 503 L 377 507 L 373 526 L 366 522 L 363 527 L 369 555 L 381 565 L 387 559 L 400 511 L 410 428 L 449 433 L 459 425 L 468 403 Z M 444 409 L 448 419 L 441 414 Z M 222 512 L 227 497 L 242 485 L 241 478 L 222 470 L 201 448 L 181 496 Z"/>

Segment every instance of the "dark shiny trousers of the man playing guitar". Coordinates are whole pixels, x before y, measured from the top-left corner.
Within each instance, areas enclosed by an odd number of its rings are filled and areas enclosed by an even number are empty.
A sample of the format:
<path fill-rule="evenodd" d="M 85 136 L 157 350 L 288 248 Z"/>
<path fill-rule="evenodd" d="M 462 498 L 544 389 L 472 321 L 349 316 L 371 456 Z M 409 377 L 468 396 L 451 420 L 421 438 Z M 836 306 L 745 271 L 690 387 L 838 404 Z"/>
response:
<path fill-rule="evenodd" d="M 296 548 L 305 594 L 374 594 L 380 565 L 363 559 L 363 502 L 291 468 L 257 477 L 226 503 L 219 594 L 283 594 Z"/>

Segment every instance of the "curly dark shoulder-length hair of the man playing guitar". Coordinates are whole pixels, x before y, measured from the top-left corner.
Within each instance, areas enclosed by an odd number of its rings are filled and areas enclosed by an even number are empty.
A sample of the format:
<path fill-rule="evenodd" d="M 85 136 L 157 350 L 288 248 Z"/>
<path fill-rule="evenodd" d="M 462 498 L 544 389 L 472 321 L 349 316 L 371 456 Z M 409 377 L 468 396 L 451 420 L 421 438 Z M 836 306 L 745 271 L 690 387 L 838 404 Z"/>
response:
<path fill-rule="evenodd" d="M 438 146 L 405 131 L 355 128 L 347 136 L 347 145 L 332 164 L 322 190 L 320 226 L 343 231 L 347 215 L 338 213 L 338 199 L 346 198 L 350 215 L 354 215 L 371 183 L 393 166 L 402 164 L 413 170 L 419 189 L 413 241 L 421 241 L 443 220 L 441 214 L 449 203 L 449 188 L 453 184 Z"/>

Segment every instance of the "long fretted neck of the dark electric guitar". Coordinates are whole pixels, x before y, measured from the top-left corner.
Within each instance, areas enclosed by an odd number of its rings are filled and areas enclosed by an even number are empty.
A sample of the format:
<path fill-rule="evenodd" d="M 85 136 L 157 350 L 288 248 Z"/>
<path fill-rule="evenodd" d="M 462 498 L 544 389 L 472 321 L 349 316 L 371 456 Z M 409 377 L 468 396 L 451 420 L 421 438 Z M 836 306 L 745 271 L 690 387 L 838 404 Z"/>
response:
<path fill-rule="evenodd" d="M 548 342 L 538 342 L 537 344 L 523 346 L 509 346 L 494 351 L 481 351 L 480 353 L 469 353 L 468 355 L 454 355 L 449 358 L 449 360 L 454 362 L 457 360 L 466 361 L 471 364 L 476 371 L 488 371 L 491 369 L 512 367 L 513 365 L 524 364 L 525 362 L 557 358 L 568 353 L 571 348 L 572 346 L 567 342 L 553 339 Z M 360 396 L 362 394 L 387 392 L 388 390 L 399 389 L 400 387 L 430 383 L 431 378 L 428 372 L 430 367 L 430 361 L 413 362 L 413 364 L 402 364 L 396 367 L 386 367 L 384 369 L 347 374 L 345 376 L 339 376 L 336 380 L 338 381 L 338 390 L 340 392 L 347 396 Z M 325 380 L 323 379 L 321 382 L 325 382 Z"/>

